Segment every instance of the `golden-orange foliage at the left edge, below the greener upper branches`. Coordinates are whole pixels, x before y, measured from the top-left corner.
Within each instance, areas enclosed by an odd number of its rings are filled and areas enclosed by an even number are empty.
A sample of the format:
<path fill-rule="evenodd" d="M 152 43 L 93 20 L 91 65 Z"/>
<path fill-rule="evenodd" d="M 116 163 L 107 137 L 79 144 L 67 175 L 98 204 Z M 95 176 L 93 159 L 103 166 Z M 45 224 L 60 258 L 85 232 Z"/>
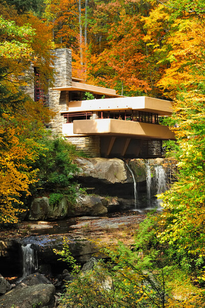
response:
<path fill-rule="evenodd" d="M 37 143 L 24 138 L 19 127 L 12 127 L 13 117 L 3 114 L 0 128 L 0 223 L 16 223 L 20 196 L 30 194 L 30 184 L 37 181 L 37 170 L 30 163 L 38 157 Z M 16 134 L 18 133 L 18 134 Z M 15 208 L 16 206 L 16 208 Z"/>

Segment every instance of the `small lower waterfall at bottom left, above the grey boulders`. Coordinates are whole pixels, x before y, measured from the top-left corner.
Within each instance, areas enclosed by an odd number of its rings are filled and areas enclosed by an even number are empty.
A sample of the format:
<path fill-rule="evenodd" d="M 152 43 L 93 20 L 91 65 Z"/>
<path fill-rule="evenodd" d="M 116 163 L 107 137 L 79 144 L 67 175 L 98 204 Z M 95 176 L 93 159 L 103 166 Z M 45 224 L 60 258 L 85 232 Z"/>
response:
<path fill-rule="evenodd" d="M 37 252 L 31 248 L 31 244 L 26 246 L 22 245 L 22 256 L 23 256 L 23 278 L 32 274 L 34 270 L 37 270 Z"/>

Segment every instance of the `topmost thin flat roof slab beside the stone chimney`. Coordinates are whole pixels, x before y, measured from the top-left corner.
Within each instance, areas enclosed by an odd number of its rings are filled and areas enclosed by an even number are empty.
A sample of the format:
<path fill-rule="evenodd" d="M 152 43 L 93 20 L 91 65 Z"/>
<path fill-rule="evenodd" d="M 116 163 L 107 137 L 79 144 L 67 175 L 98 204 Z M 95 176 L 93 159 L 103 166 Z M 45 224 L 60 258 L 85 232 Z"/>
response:
<path fill-rule="evenodd" d="M 80 84 L 76 83 L 75 81 L 72 81 L 72 84 L 70 87 L 64 86 L 64 87 L 57 87 L 52 88 L 53 90 L 57 91 L 85 91 L 85 92 L 91 92 L 94 94 L 102 94 L 102 95 L 108 95 L 108 96 L 114 96 L 114 97 L 125 97 L 122 95 L 117 95 L 116 91 L 113 89 L 103 88 L 103 87 L 97 87 L 87 84 Z"/>

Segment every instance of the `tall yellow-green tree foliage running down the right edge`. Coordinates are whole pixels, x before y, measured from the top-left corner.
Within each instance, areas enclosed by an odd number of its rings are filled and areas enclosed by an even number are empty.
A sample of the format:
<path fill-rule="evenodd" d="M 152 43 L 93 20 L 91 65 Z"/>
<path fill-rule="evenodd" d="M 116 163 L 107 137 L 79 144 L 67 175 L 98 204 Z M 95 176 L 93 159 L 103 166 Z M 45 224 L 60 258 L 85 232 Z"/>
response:
<path fill-rule="evenodd" d="M 203 283 L 205 122 L 201 5 L 199 1 L 167 1 L 153 10 L 146 22 L 147 39 L 156 46 L 159 63 L 165 65 L 158 87 L 173 100 L 174 112 L 168 123 L 175 132 L 179 160 L 178 181 L 160 196 L 164 210 L 158 236 L 168 245 L 171 257 Z M 163 33 L 158 45 L 156 31 Z"/>

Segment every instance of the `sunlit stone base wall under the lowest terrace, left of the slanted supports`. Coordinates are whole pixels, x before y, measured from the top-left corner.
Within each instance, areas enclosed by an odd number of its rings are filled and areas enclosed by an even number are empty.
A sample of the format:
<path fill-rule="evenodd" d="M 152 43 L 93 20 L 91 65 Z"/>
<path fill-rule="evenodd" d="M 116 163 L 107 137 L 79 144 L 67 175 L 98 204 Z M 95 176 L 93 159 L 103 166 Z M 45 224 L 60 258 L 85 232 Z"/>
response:
<path fill-rule="evenodd" d="M 90 157 L 100 157 L 100 137 L 67 137 L 67 141 L 76 146 L 77 150 L 85 152 Z"/>

